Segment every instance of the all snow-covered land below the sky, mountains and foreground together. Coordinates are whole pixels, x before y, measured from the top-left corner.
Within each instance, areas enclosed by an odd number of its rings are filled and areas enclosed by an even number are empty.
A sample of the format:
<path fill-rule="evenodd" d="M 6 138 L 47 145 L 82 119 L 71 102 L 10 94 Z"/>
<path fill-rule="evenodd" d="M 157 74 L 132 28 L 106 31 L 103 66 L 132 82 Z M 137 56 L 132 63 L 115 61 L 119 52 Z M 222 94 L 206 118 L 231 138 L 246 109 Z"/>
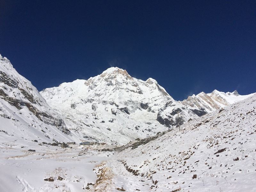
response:
<path fill-rule="evenodd" d="M 254 93 L 176 101 L 114 67 L 38 92 L 0 55 L 0 139 L 1 192 L 256 191 Z"/>

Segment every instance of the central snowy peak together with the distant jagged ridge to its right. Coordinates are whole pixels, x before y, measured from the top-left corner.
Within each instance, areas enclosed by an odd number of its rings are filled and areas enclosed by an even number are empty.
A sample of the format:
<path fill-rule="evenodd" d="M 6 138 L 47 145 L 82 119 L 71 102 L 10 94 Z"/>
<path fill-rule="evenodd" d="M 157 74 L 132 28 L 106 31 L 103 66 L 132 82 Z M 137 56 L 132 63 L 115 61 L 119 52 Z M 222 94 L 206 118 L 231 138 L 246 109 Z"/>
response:
<path fill-rule="evenodd" d="M 131 77 L 111 67 L 88 80 L 75 80 L 41 91 L 71 130 L 97 142 L 126 144 L 182 124 L 249 97 L 237 92 L 200 93 L 175 101 L 156 80 Z"/>

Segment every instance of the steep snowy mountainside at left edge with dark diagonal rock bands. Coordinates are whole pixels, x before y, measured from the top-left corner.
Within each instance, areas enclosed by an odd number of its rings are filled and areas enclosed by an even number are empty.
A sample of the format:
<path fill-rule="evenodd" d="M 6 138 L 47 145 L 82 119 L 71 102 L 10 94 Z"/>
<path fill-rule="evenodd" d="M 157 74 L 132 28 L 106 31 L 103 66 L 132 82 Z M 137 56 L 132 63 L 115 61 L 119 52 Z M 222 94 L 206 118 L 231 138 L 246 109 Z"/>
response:
<path fill-rule="evenodd" d="M 70 141 L 72 134 L 41 94 L 0 55 L 0 137 L 2 140 Z M 83 138 L 81 136 L 81 138 Z"/>

